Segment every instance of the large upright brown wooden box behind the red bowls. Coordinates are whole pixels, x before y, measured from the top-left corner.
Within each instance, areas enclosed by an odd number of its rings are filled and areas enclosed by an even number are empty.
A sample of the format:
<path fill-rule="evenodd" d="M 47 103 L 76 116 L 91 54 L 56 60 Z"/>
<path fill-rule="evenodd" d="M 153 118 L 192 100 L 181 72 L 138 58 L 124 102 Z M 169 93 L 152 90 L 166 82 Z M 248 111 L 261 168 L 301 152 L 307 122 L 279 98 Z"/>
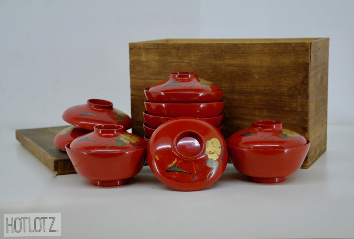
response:
<path fill-rule="evenodd" d="M 143 89 L 195 71 L 224 90 L 224 136 L 275 119 L 311 141 L 302 168 L 326 150 L 329 38 L 164 39 L 129 44 L 132 132 L 144 135 Z"/>

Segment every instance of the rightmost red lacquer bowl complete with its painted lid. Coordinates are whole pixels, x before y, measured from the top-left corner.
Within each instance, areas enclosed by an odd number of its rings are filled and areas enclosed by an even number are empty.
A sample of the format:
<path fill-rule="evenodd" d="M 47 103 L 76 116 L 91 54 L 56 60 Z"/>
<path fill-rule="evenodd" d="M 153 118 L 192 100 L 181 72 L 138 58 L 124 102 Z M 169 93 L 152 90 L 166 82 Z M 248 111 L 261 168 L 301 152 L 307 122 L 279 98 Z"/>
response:
<path fill-rule="evenodd" d="M 285 181 L 301 167 L 310 147 L 302 135 L 274 120 L 254 121 L 226 142 L 234 167 L 261 183 Z"/>

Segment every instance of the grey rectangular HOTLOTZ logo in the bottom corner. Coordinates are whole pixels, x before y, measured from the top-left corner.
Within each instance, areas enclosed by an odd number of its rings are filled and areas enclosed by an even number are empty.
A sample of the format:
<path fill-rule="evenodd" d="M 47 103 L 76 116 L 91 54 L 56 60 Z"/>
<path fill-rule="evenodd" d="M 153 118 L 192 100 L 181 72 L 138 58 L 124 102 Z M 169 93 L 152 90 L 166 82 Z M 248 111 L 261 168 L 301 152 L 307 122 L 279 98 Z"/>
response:
<path fill-rule="evenodd" d="M 4 237 L 61 236 L 61 213 L 4 214 Z"/>

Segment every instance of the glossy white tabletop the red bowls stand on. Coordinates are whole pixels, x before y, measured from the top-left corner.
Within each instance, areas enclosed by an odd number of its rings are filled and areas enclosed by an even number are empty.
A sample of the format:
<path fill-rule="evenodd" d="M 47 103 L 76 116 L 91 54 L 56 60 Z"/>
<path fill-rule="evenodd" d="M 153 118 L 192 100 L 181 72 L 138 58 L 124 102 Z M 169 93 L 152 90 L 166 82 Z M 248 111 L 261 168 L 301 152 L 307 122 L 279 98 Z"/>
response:
<path fill-rule="evenodd" d="M 0 214 L 60 212 L 63 238 L 354 238 L 353 135 L 353 125 L 330 125 L 324 155 L 285 182 L 250 182 L 229 164 L 209 188 L 180 192 L 148 166 L 109 188 L 55 176 L 10 132 Z"/>

